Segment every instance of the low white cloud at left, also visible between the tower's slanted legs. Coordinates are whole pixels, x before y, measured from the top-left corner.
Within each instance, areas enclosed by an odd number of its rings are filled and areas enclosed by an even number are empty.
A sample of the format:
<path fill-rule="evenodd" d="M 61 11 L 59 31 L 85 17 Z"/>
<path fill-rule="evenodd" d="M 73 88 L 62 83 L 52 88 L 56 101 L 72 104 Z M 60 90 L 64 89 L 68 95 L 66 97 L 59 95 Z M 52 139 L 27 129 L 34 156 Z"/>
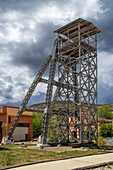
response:
<path fill-rule="evenodd" d="M 29 77 L 29 69 L 27 67 L 17 68 L 16 66 L 12 66 L 10 69 L 5 68 L 5 70 L 4 67 L 1 67 L 0 73 L 0 91 L 2 92 L 2 96 L 0 96 L 0 104 L 17 104 L 22 102 L 35 78 L 35 75 L 31 78 Z M 11 80 L 9 78 L 11 78 Z M 40 93 L 46 93 L 46 89 L 47 84 L 39 83 L 33 96 L 38 96 Z M 10 98 L 8 98 L 9 95 Z"/>

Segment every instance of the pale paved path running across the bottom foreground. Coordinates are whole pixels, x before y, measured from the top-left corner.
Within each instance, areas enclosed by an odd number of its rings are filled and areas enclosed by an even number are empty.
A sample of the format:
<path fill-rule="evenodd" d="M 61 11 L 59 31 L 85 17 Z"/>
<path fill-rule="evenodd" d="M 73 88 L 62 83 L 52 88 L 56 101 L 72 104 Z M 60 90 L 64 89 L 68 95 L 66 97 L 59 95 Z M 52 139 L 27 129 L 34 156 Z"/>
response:
<path fill-rule="evenodd" d="M 113 161 L 113 153 L 39 163 L 18 168 L 11 168 L 11 170 L 71 170 L 74 168 L 96 165 L 110 161 Z"/>

